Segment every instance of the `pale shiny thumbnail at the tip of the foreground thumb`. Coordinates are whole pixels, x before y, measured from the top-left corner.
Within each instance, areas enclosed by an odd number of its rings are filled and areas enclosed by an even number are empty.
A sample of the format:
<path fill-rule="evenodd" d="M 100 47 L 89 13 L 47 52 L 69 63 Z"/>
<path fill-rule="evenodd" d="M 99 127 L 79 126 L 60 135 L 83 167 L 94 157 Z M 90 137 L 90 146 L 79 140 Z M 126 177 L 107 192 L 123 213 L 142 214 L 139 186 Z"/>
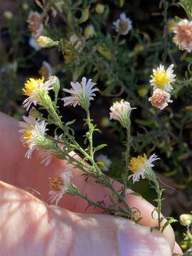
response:
<path fill-rule="evenodd" d="M 171 256 L 171 247 L 159 231 L 152 233 L 132 220 L 121 220 L 118 242 L 119 256 Z"/>

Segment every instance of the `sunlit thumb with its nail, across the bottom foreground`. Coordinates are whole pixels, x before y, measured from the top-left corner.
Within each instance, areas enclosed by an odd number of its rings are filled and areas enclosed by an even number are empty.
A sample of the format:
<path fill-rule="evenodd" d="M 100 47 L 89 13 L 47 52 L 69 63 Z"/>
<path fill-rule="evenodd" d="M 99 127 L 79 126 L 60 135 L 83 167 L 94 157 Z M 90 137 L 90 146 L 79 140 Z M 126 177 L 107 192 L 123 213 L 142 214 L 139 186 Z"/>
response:
<path fill-rule="evenodd" d="M 158 231 L 123 218 L 47 206 L 3 182 L 0 219 L 0 255 L 171 255 Z"/>

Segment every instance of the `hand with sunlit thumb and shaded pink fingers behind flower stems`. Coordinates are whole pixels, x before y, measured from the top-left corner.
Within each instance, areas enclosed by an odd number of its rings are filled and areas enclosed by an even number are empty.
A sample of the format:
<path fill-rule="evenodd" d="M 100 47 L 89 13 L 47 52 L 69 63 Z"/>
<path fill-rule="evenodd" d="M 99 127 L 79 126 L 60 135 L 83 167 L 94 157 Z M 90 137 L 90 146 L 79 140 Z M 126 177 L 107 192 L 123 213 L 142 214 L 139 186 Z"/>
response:
<path fill-rule="evenodd" d="M 26 148 L 20 142 L 18 122 L 0 113 L 0 255 L 2 256 L 171 256 L 182 255 L 169 225 L 164 234 L 151 231 L 154 206 L 127 191 L 127 203 L 139 208 L 142 225 L 131 220 L 100 214 L 87 208 L 80 198 L 65 195 L 60 207 L 48 205 L 48 177 L 57 176 L 67 166 L 53 159 L 49 166 L 40 164 L 37 153 L 24 157 Z M 110 191 L 85 182 L 79 169 L 73 171 L 73 183 L 93 201 L 102 200 Z M 119 183 L 115 183 L 118 189 Z M 39 193 L 28 193 L 34 188 Z M 31 190 L 32 191 L 32 190 Z"/>

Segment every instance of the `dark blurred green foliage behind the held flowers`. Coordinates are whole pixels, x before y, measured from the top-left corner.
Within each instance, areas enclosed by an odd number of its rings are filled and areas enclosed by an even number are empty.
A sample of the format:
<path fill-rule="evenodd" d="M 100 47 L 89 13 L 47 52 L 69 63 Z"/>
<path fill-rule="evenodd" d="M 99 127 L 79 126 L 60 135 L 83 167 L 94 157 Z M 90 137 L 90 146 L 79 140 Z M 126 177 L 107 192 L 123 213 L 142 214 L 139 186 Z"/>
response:
<path fill-rule="evenodd" d="M 182 2 L 182 1 L 181 1 Z M 183 1 L 185 2 L 185 1 Z M 101 6 L 97 4 L 102 4 Z M 60 78 L 62 87 L 82 75 L 93 78 L 100 92 L 91 104 L 92 119 L 102 130 L 95 144 L 107 143 L 104 153 L 112 160 L 107 174 L 119 178 L 124 164 L 120 152 L 124 150 L 124 133 L 118 124 L 110 122 L 112 102 L 124 98 L 137 110 L 132 112 L 132 156 L 156 152 L 161 157 L 156 171 L 161 186 L 166 189 L 164 214 L 178 215 L 192 207 L 192 101 L 191 53 L 180 51 L 172 42 L 173 20 L 186 18 L 177 1 L 165 0 L 55 0 L 55 1 L 4 1 L 0 6 L 0 110 L 17 119 L 25 111 L 22 87 L 29 78 L 42 75 L 42 65 L 50 65 L 49 72 Z M 38 11 L 44 25 L 43 35 L 60 41 L 62 47 L 36 48 L 29 44 L 28 14 Z M 119 36 L 112 25 L 124 12 L 131 18 L 133 29 L 127 36 Z M 88 25 L 94 27 L 86 38 Z M 71 36 L 80 38 L 72 43 Z M 151 70 L 160 63 L 175 65 L 177 75 L 174 102 L 164 111 L 151 107 L 149 85 Z M 44 68 L 45 74 L 45 68 Z M 60 91 L 60 97 L 64 92 Z M 66 109 L 65 109 L 66 110 Z M 68 107 L 60 111 L 65 120 L 75 117 L 78 140 L 85 132 L 80 108 Z M 146 181 L 137 183 L 134 190 L 152 201 L 153 193 Z M 179 227 L 178 227 L 179 230 Z"/>

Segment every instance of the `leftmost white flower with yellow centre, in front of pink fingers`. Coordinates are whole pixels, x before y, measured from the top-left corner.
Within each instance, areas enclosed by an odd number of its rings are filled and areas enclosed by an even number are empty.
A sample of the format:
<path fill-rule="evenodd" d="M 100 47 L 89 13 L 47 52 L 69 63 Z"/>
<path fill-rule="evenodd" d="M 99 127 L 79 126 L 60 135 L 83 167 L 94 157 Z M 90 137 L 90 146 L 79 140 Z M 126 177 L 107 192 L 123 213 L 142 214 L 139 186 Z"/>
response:
<path fill-rule="evenodd" d="M 21 133 L 21 141 L 24 146 L 28 147 L 26 151 L 26 157 L 31 159 L 31 155 L 35 149 L 40 149 L 45 140 L 46 122 L 38 121 L 34 117 L 23 117 L 24 122 L 19 122 L 21 129 L 18 131 Z"/>

